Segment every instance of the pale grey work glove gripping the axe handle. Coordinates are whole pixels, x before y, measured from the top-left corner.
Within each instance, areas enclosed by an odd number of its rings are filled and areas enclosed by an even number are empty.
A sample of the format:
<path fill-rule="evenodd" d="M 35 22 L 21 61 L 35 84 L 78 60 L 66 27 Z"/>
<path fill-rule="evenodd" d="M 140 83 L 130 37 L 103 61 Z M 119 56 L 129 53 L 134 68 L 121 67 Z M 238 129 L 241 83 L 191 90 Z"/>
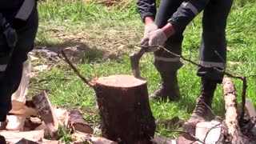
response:
<path fill-rule="evenodd" d="M 160 49 L 159 46 L 163 46 L 166 42 L 166 34 L 161 30 L 153 30 L 146 35 L 140 42 L 141 46 L 149 46 L 146 52 L 154 52 Z M 148 44 L 147 44 L 148 42 Z"/>

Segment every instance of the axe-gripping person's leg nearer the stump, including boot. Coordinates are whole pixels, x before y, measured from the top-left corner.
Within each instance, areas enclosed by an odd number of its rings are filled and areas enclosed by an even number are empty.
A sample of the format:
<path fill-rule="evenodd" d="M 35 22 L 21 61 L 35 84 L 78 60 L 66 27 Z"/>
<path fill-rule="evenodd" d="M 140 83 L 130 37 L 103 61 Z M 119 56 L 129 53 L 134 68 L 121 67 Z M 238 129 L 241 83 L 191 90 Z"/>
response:
<path fill-rule="evenodd" d="M 182 0 L 162 0 L 158 8 L 158 14 L 155 23 L 158 28 L 162 28 L 167 24 L 169 18 L 181 6 Z M 177 31 L 172 37 L 168 38 L 164 47 L 174 54 L 182 53 L 182 36 L 183 30 Z M 178 57 L 168 53 L 165 50 L 158 50 L 154 52 L 154 66 L 160 73 L 162 82 L 158 90 L 150 94 L 151 99 L 159 100 L 162 98 L 170 101 L 176 101 L 180 98 L 180 91 L 178 88 L 177 71 L 182 66 L 182 62 Z"/>

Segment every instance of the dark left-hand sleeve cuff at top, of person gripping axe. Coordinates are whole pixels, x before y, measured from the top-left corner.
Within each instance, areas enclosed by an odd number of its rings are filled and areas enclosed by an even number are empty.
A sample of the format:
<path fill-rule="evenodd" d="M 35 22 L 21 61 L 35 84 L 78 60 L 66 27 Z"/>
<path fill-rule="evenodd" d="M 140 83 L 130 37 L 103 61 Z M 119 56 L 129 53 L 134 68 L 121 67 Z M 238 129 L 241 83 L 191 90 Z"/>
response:
<path fill-rule="evenodd" d="M 155 0 L 137 0 L 138 12 L 141 15 L 142 21 L 147 16 L 155 17 L 156 2 Z"/>

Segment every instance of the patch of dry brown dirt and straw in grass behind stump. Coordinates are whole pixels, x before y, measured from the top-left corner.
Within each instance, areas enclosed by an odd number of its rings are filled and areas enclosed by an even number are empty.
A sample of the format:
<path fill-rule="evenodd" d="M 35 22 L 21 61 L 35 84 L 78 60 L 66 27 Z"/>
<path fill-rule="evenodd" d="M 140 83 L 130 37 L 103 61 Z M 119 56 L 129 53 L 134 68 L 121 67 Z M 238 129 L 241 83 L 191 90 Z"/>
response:
<path fill-rule="evenodd" d="M 79 31 L 79 32 L 78 32 Z M 97 61 L 98 59 L 118 60 L 124 54 L 131 54 L 136 45 L 137 32 L 134 30 L 66 30 L 55 28 L 47 34 L 57 42 L 38 45 L 35 49 L 59 53 L 65 49 L 73 62 Z M 118 38 L 116 37 L 118 35 Z"/>

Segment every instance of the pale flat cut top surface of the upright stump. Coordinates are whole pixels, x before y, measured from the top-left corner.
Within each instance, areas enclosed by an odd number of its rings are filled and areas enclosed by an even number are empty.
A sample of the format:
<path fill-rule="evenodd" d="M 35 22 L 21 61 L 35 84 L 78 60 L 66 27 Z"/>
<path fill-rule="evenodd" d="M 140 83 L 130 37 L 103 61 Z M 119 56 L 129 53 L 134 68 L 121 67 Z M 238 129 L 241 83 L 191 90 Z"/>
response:
<path fill-rule="evenodd" d="M 113 87 L 134 87 L 141 86 L 146 83 L 138 78 L 134 78 L 133 75 L 111 75 L 109 77 L 98 78 L 96 81 L 99 85 L 113 86 Z"/>

